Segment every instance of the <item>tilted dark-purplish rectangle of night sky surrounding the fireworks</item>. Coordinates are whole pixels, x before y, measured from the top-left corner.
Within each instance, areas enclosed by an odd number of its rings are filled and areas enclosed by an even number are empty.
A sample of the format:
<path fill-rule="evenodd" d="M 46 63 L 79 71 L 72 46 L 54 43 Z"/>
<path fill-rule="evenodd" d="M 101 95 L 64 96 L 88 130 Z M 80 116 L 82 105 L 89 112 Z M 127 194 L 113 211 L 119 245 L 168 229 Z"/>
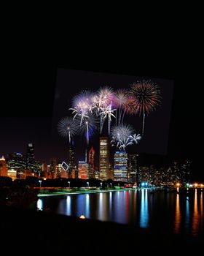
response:
<path fill-rule="evenodd" d="M 148 80 L 149 78 L 146 78 Z M 55 149 L 63 159 L 67 159 L 67 141 L 59 138 L 57 125 L 58 121 L 64 116 L 71 116 L 71 110 L 74 96 L 79 94 L 82 89 L 90 89 L 95 92 L 101 86 L 111 86 L 116 90 L 119 88 L 127 89 L 131 83 L 141 80 L 130 75 L 115 75 L 104 72 L 87 72 L 71 69 L 58 69 L 55 86 L 55 103 L 52 118 L 52 140 L 55 140 Z M 161 106 L 146 116 L 145 136 L 136 146 L 128 146 L 127 151 L 132 153 L 148 153 L 148 154 L 166 154 L 168 145 L 168 130 L 170 123 L 171 99 L 173 94 L 173 80 L 164 80 L 154 78 L 154 83 L 160 87 L 162 94 Z M 117 112 L 118 114 L 118 112 Z M 73 116 L 73 115 L 72 115 Z M 142 117 L 138 115 L 125 115 L 124 124 L 130 124 L 136 129 L 136 134 L 141 134 Z M 114 118 L 111 121 L 111 127 L 115 124 Z M 107 124 L 103 125 L 103 131 L 106 130 Z M 96 133 L 96 132 L 95 132 Z M 99 135 L 99 132 L 98 132 Z M 104 133 L 107 135 L 107 131 Z M 99 138 L 97 134 L 90 138 L 89 148 L 93 146 L 98 156 Z M 76 159 L 85 159 L 85 137 L 76 136 L 74 138 L 76 146 Z M 115 148 L 113 148 L 113 151 Z M 97 162 L 97 161 L 96 161 Z"/>

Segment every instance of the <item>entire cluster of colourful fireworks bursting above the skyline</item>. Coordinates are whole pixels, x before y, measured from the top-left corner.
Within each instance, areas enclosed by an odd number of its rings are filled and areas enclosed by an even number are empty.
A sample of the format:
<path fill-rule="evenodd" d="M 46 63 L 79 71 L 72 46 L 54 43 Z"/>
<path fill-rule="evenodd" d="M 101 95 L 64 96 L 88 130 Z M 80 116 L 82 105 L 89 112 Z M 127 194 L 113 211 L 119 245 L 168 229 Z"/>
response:
<path fill-rule="evenodd" d="M 109 86 L 98 91 L 83 90 L 72 100 L 72 117 L 59 121 L 58 132 L 68 138 L 69 143 L 75 135 L 85 136 L 87 145 L 95 132 L 102 134 L 105 125 L 111 135 L 111 146 L 125 150 L 127 146 L 141 140 L 133 127 L 124 124 L 126 115 L 143 115 L 142 135 L 144 135 L 144 118 L 161 102 L 159 87 L 151 80 L 141 80 L 130 85 L 130 89 L 117 89 Z M 114 122 L 113 122 L 114 121 Z M 114 124 L 114 126 L 112 126 Z"/>

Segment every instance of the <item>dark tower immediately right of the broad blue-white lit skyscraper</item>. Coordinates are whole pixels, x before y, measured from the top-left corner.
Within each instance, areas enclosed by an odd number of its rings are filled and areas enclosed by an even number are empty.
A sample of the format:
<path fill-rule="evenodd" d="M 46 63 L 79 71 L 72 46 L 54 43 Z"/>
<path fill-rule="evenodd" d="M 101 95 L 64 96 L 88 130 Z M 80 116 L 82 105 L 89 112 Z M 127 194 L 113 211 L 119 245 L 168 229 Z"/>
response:
<path fill-rule="evenodd" d="M 128 160 L 128 181 L 138 183 L 138 154 L 129 154 Z"/>

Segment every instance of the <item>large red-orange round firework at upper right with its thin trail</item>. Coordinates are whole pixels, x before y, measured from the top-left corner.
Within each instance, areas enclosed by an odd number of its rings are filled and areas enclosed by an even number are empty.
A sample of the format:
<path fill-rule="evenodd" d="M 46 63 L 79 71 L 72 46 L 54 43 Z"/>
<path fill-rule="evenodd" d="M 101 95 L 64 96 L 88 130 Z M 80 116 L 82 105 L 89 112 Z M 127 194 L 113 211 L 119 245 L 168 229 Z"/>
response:
<path fill-rule="evenodd" d="M 134 98 L 134 105 L 139 115 L 143 115 L 142 135 L 144 135 L 144 120 L 146 115 L 160 105 L 161 94 L 157 84 L 152 80 L 141 80 L 130 86 L 130 97 Z"/>

